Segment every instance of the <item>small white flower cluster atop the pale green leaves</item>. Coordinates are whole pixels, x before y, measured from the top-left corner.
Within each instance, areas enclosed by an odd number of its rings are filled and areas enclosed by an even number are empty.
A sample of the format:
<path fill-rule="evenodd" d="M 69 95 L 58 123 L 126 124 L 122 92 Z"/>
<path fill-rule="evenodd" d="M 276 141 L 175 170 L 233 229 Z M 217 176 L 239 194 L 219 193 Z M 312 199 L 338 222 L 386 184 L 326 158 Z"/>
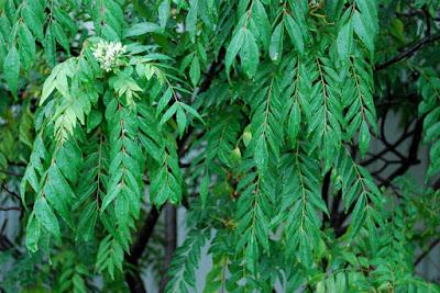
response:
<path fill-rule="evenodd" d="M 101 64 L 101 68 L 109 72 L 112 68 L 119 66 L 119 58 L 127 50 L 121 42 L 99 42 L 94 48 L 94 56 Z"/>

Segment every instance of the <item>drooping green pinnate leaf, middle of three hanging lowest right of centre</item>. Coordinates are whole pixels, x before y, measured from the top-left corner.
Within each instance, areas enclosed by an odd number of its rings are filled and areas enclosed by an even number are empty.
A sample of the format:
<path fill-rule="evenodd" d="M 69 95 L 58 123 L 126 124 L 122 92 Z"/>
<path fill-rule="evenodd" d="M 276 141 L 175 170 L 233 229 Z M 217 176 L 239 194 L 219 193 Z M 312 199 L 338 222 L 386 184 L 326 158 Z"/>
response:
<path fill-rule="evenodd" d="M 306 154 L 298 143 L 293 153 L 283 158 L 283 202 L 278 218 L 286 223 L 283 234 L 287 257 L 309 268 L 312 252 L 322 241 L 321 219 L 317 213 L 328 214 L 328 209 L 321 199 L 317 160 Z"/>

